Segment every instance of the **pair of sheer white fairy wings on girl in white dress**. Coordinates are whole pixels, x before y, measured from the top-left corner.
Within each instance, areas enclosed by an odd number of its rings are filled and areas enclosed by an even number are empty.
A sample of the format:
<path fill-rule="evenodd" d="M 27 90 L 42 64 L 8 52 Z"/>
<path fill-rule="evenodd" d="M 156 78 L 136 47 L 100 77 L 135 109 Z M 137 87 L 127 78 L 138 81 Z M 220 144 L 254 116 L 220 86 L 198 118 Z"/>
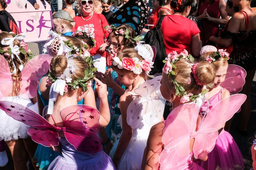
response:
<path fill-rule="evenodd" d="M 144 114 L 146 114 L 146 122 L 150 126 L 160 122 L 162 119 L 164 105 L 162 101 L 157 98 L 161 96 L 161 94 L 154 95 L 154 92 L 160 89 L 161 77 L 162 76 L 159 76 L 145 81 L 134 90 L 142 97 L 133 100 L 127 108 L 126 121 L 132 129 L 135 129 L 142 122 Z"/>

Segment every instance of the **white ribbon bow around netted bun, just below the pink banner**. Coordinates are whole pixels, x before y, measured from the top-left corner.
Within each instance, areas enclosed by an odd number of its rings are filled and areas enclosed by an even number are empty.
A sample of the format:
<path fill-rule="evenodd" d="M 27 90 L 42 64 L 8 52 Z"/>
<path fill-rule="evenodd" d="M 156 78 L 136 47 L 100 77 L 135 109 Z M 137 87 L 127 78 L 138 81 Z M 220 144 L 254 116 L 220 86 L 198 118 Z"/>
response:
<path fill-rule="evenodd" d="M 49 47 L 55 38 L 59 38 L 61 40 L 60 42 L 61 46 L 57 55 L 64 55 L 64 53 L 68 53 L 72 51 L 71 48 L 65 45 L 64 41 L 67 41 L 67 39 L 64 36 L 61 36 L 60 34 L 55 33 L 53 30 L 50 30 L 49 34 L 52 36 L 52 39 L 44 45 L 44 48 Z"/>

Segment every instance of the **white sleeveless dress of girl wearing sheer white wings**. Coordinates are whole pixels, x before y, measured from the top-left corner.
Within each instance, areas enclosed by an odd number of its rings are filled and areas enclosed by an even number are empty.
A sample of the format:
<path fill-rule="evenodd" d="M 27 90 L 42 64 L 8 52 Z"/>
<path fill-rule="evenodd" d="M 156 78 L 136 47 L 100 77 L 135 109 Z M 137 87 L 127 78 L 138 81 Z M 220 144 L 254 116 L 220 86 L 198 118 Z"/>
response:
<path fill-rule="evenodd" d="M 132 92 L 128 92 L 128 93 L 132 94 L 134 99 L 137 97 Z M 119 121 L 121 119 L 121 116 L 119 118 Z M 128 144 L 125 152 L 123 153 L 119 161 L 118 169 L 120 170 L 140 170 L 141 169 L 144 149 L 147 145 L 148 135 L 151 127 L 152 126 L 150 126 L 146 122 L 146 114 L 144 114 L 140 125 L 138 125 L 137 128 L 133 129 L 130 143 Z M 109 153 L 110 156 L 113 157 L 118 143 L 119 143 L 119 140 L 117 140 L 114 143 Z"/>

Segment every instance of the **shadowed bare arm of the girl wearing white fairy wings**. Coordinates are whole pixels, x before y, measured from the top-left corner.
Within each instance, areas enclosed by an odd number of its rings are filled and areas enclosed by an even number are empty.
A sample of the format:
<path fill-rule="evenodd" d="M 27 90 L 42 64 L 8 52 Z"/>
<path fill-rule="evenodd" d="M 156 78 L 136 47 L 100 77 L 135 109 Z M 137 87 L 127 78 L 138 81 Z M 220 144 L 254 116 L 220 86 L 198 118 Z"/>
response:
<path fill-rule="evenodd" d="M 127 108 L 130 105 L 131 101 L 133 101 L 132 95 L 129 93 L 125 93 L 120 97 L 120 111 L 122 115 L 122 129 L 123 132 L 119 139 L 119 143 L 116 149 L 116 152 L 113 156 L 113 163 L 116 167 L 118 167 L 119 161 L 125 152 L 127 146 L 130 143 L 131 136 L 132 136 L 132 128 L 130 125 L 127 124 L 126 117 L 127 117 Z"/>

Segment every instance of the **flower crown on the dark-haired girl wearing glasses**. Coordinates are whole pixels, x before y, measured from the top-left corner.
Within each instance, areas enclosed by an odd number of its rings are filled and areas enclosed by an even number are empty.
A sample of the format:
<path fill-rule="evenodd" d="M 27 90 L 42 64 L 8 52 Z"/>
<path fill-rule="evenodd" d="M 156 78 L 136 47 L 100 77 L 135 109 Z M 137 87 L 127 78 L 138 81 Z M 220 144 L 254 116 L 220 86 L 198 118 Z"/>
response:
<path fill-rule="evenodd" d="M 129 29 L 127 28 L 126 31 L 124 31 L 123 29 L 118 29 L 118 27 L 114 26 L 114 25 L 108 25 L 104 27 L 108 33 L 112 33 L 113 31 L 115 32 L 116 35 L 125 35 L 125 38 L 130 39 L 133 43 L 139 42 L 142 40 L 141 36 L 136 36 L 134 38 L 129 36 Z"/>

